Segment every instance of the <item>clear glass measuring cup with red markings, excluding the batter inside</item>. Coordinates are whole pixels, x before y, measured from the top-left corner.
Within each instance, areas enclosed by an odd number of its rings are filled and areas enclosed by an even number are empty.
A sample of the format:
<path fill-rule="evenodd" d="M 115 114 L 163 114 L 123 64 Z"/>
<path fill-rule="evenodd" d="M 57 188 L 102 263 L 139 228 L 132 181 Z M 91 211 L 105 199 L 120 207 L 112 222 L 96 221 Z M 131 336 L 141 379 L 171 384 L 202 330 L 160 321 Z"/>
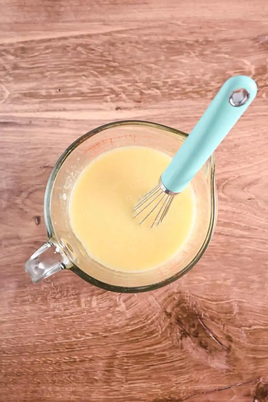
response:
<path fill-rule="evenodd" d="M 44 215 L 48 240 L 25 264 L 32 281 L 38 282 L 58 271 L 70 269 L 92 285 L 111 291 L 135 293 L 171 283 L 193 268 L 205 252 L 216 223 L 213 156 L 191 182 L 197 200 L 191 236 L 177 256 L 161 267 L 146 272 L 123 273 L 97 263 L 73 234 L 68 213 L 76 179 L 98 155 L 113 148 L 137 145 L 173 156 L 186 137 L 187 134 L 182 131 L 156 123 L 118 121 L 97 127 L 71 144 L 57 161 L 47 183 Z"/>

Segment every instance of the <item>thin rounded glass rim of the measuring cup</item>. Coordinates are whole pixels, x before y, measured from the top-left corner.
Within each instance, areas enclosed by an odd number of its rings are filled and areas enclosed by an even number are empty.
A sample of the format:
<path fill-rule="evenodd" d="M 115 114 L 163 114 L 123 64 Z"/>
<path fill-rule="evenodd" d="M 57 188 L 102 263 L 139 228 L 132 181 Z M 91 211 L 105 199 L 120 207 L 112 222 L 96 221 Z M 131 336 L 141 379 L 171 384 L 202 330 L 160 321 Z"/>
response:
<path fill-rule="evenodd" d="M 87 133 L 81 135 L 81 137 L 77 138 L 69 147 L 61 154 L 59 159 L 57 160 L 53 170 L 51 171 L 51 174 L 49 176 L 48 182 L 47 182 L 47 187 L 45 191 L 45 199 L 44 199 L 44 217 L 45 217 L 45 225 L 47 228 L 47 234 L 48 234 L 48 241 L 50 240 L 55 240 L 57 244 L 59 244 L 59 247 L 61 248 L 61 242 L 57 238 L 53 225 L 51 222 L 51 213 L 50 213 L 50 206 L 51 206 L 51 195 L 53 191 L 53 185 L 55 182 L 55 179 L 57 177 L 57 174 L 65 162 L 65 160 L 68 158 L 69 154 L 77 148 L 80 144 L 82 144 L 84 141 L 86 141 L 88 138 L 92 137 L 93 135 L 104 131 L 110 127 L 116 127 L 116 126 L 122 126 L 122 125 L 144 125 L 147 127 L 157 127 L 160 129 L 163 129 L 165 131 L 172 132 L 177 135 L 183 135 L 187 137 L 189 134 L 185 133 L 184 131 L 174 129 L 172 127 L 158 124 L 158 123 L 153 123 L 150 121 L 144 121 L 144 120 L 121 120 L 121 121 L 114 121 L 112 123 L 106 123 L 104 125 L 101 125 L 99 127 L 96 127 Z M 98 279 L 95 279 L 82 271 L 77 265 L 73 263 L 71 260 L 72 267 L 68 267 L 65 269 L 69 269 L 70 271 L 73 271 L 76 275 L 78 275 L 81 279 L 84 279 L 91 285 L 97 286 L 101 289 L 109 290 L 109 291 L 114 291 L 114 292 L 119 292 L 119 293 L 139 293 L 139 292 L 145 292 L 145 291 L 150 291 L 154 289 L 158 289 L 160 287 L 163 287 L 165 285 L 169 285 L 170 283 L 176 281 L 177 279 L 181 278 L 183 275 L 185 275 L 187 272 L 189 272 L 200 260 L 200 258 L 203 256 L 205 250 L 207 249 L 207 246 L 211 240 L 213 230 L 215 228 L 215 222 L 216 222 L 216 208 L 215 208 L 215 203 L 216 203 L 216 189 L 215 189 L 215 158 L 214 155 L 211 155 L 210 157 L 211 160 L 211 216 L 210 216 L 210 222 L 209 222 L 209 229 L 206 235 L 206 238 L 193 258 L 191 262 L 181 271 L 176 273 L 175 275 L 172 275 L 169 278 L 164 279 L 163 281 L 153 283 L 150 285 L 144 285 L 144 286 L 136 286 L 136 287 L 123 287 L 123 286 L 117 286 L 117 285 L 110 285 L 109 283 L 105 283 L 102 281 L 99 281 Z M 65 252 L 63 250 L 63 252 Z M 69 256 L 68 256 L 69 258 Z"/>

